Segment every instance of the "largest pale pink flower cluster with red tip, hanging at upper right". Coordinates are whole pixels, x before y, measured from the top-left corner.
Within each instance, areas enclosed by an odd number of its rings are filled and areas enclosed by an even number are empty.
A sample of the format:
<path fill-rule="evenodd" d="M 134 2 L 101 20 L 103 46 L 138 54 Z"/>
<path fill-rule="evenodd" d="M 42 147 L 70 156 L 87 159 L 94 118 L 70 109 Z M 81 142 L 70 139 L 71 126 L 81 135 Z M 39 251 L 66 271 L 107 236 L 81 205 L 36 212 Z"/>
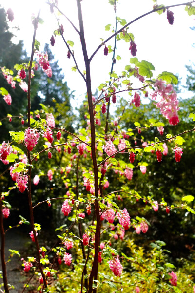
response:
<path fill-rule="evenodd" d="M 162 80 L 157 80 L 155 83 L 156 90 L 152 94 L 152 98 L 156 99 L 157 95 L 161 96 L 161 100 L 156 104 L 162 115 L 169 120 L 171 125 L 176 125 L 179 122 L 178 110 L 179 102 L 173 86 L 165 84 Z"/>

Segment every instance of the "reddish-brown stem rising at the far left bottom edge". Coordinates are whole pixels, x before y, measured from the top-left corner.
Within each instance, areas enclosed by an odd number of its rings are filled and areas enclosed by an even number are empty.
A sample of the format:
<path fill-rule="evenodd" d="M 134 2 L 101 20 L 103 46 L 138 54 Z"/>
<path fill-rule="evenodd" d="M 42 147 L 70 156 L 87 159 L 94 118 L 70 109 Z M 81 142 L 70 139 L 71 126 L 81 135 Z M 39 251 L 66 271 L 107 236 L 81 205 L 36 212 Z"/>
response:
<path fill-rule="evenodd" d="M 2 213 L 2 197 L 0 194 L 0 234 L 1 234 L 1 264 L 3 271 L 3 285 L 5 288 L 5 293 L 9 293 L 9 287 L 7 283 L 7 270 L 6 270 L 6 262 L 5 262 L 5 232 L 3 227 L 3 213 Z"/>

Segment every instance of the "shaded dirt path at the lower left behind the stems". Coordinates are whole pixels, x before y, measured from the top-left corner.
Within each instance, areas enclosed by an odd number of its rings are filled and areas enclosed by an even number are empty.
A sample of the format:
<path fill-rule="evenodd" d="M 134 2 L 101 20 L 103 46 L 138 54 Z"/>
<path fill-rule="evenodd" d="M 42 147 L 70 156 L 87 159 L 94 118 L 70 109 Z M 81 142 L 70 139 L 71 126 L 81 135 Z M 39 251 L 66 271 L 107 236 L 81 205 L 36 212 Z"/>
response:
<path fill-rule="evenodd" d="M 29 237 L 27 234 L 24 234 L 17 229 L 9 230 L 5 237 L 5 260 L 7 261 L 10 255 L 9 249 L 17 250 L 21 254 L 25 243 L 28 241 Z M 21 257 L 19 255 L 14 255 L 11 257 L 11 261 L 7 263 L 7 280 L 9 284 L 15 287 L 15 289 L 10 290 L 10 293 L 21 293 L 23 289 L 22 275 L 20 273 L 22 270 Z M 2 271 L 1 261 L 0 270 Z"/>

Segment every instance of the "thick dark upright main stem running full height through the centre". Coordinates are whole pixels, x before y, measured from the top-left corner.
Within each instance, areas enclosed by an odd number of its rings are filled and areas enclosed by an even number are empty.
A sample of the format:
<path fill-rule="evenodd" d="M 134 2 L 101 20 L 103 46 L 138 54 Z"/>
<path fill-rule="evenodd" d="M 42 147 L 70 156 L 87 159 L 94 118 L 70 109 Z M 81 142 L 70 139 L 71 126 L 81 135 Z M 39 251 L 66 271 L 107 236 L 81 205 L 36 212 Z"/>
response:
<path fill-rule="evenodd" d="M 82 45 L 82 51 L 85 61 L 85 70 L 86 70 L 86 87 L 87 87 L 87 97 L 88 97 L 88 105 L 89 105 L 89 115 L 90 115 L 90 126 L 91 126 L 91 151 L 92 151 L 92 161 L 94 167 L 94 189 L 95 189 L 95 209 L 96 209 L 96 233 L 95 233 L 95 254 L 94 261 L 92 265 L 92 270 L 89 277 L 89 288 L 88 293 L 93 291 L 93 278 L 94 275 L 98 272 L 98 252 L 99 252 L 99 241 L 100 241 L 100 215 L 99 215 L 99 202 L 98 202 L 98 165 L 96 159 L 96 130 L 94 123 L 94 109 L 93 109 L 93 101 L 92 101 L 92 90 L 91 90 L 91 75 L 90 75 L 90 61 L 87 55 L 87 48 L 85 43 L 84 36 L 84 27 L 82 20 L 82 9 L 80 0 L 77 0 L 78 7 L 78 20 L 80 26 L 80 41 Z"/>

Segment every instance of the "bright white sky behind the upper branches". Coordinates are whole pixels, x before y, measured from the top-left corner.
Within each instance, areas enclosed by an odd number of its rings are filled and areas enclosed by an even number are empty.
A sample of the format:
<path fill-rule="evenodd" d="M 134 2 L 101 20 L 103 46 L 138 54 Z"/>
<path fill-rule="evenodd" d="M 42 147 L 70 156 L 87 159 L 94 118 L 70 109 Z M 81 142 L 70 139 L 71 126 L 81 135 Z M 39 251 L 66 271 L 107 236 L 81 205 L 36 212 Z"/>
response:
<path fill-rule="evenodd" d="M 171 5 L 183 3 L 182 0 L 161 0 L 158 4 Z M 114 25 L 115 16 L 113 6 L 108 4 L 108 0 L 83 0 L 82 1 L 84 28 L 88 55 L 95 51 L 101 43 L 100 38 L 107 39 L 111 31 L 105 31 L 105 25 L 111 23 Z M 117 4 L 117 16 L 121 19 L 126 19 L 127 22 L 132 21 L 138 16 L 152 10 L 152 0 L 119 0 Z M 1 0 L 1 5 L 7 10 L 12 8 L 15 14 L 15 19 L 11 26 L 19 26 L 20 31 L 15 32 L 19 39 L 24 40 L 24 47 L 30 55 L 31 43 L 33 36 L 33 26 L 31 24 L 31 15 L 37 15 L 41 8 L 40 17 L 44 20 L 44 24 L 39 25 L 36 39 L 41 43 L 40 49 L 43 50 L 44 44 L 50 42 L 53 31 L 57 28 L 57 22 L 54 15 L 51 15 L 49 7 L 44 0 Z M 76 0 L 59 0 L 59 8 L 70 18 L 77 28 L 77 5 Z M 194 62 L 195 48 L 192 44 L 195 42 L 195 31 L 190 27 L 195 26 L 195 16 L 188 16 L 184 11 L 185 6 L 172 8 L 175 21 L 170 25 L 166 19 L 166 13 L 158 15 L 152 13 L 149 16 L 133 23 L 129 31 L 134 34 L 137 44 L 137 58 L 152 62 L 156 68 L 157 76 L 162 71 L 170 71 L 174 74 L 179 74 L 182 78 L 182 84 L 185 84 L 186 69 L 185 65 L 190 65 Z M 70 23 L 60 16 L 60 23 L 64 26 L 64 36 L 66 40 L 72 40 L 75 45 L 73 47 L 75 58 L 78 67 L 83 71 L 84 63 L 81 55 L 81 46 L 78 34 L 74 31 Z M 112 26 L 111 26 L 112 27 Z M 118 29 L 121 28 L 118 25 Z M 114 40 L 110 40 L 107 45 L 113 47 Z M 59 66 L 63 68 L 65 80 L 69 88 L 75 90 L 77 103 L 83 100 L 83 95 L 86 92 L 86 87 L 82 77 L 71 71 L 74 66 L 73 59 L 67 59 L 67 48 L 60 37 L 56 37 L 56 44 L 52 48 L 55 58 L 59 60 Z M 123 40 L 117 43 L 117 54 L 122 60 L 117 61 L 114 68 L 116 73 L 120 75 L 124 70 L 125 65 L 129 64 L 129 59 L 132 57 L 129 51 L 129 43 Z M 95 92 L 100 83 L 108 79 L 108 72 L 111 69 L 112 53 L 108 56 L 103 55 L 103 47 L 94 57 L 91 66 L 92 73 L 92 88 Z M 183 98 L 187 98 L 190 93 L 183 92 L 180 94 Z M 124 96 L 124 95 L 123 95 Z"/>

